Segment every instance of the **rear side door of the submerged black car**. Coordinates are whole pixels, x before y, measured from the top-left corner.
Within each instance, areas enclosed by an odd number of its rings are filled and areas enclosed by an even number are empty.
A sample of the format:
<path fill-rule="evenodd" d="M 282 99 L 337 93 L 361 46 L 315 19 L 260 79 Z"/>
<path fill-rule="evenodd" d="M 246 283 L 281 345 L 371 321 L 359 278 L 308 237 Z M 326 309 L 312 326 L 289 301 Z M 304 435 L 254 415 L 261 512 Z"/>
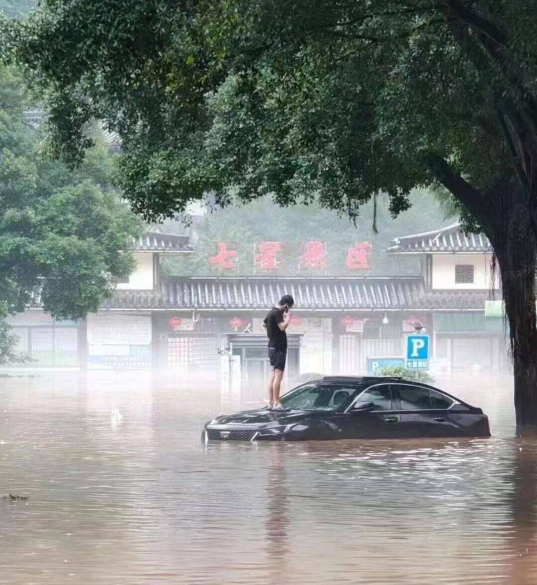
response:
<path fill-rule="evenodd" d="M 448 409 L 453 400 L 431 388 L 412 384 L 392 384 L 398 404 L 401 436 L 442 437 L 457 436 L 457 425 Z"/>

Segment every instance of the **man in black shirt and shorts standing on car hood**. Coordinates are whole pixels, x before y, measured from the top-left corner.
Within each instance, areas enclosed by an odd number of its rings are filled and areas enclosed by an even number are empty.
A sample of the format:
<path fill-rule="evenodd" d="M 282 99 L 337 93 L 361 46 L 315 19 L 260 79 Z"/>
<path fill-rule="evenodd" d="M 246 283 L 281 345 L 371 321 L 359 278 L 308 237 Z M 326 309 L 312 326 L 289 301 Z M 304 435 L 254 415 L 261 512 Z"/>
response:
<path fill-rule="evenodd" d="M 281 297 L 280 302 L 273 307 L 268 315 L 263 319 L 261 327 L 266 329 L 268 337 L 268 359 L 272 371 L 268 380 L 268 408 L 281 409 L 280 389 L 281 379 L 285 370 L 285 360 L 287 359 L 287 333 L 291 321 L 289 309 L 295 301 L 290 294 Z"/>

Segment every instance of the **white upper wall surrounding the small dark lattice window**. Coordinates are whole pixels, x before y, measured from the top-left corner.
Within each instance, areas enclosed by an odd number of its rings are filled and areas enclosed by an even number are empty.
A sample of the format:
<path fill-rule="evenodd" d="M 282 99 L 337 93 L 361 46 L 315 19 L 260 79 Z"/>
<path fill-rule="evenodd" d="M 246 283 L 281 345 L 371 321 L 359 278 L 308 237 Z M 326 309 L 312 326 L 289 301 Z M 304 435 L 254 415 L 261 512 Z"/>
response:
<path fill-rule="evenodd" d="M 433 254 L 432 288 L 442 290 L 487 290 L 499 288 L 498 271 L 492 284 L 492 254 Z M 455 266 L 473 264 L 473 284 L 455 284 Z"/>

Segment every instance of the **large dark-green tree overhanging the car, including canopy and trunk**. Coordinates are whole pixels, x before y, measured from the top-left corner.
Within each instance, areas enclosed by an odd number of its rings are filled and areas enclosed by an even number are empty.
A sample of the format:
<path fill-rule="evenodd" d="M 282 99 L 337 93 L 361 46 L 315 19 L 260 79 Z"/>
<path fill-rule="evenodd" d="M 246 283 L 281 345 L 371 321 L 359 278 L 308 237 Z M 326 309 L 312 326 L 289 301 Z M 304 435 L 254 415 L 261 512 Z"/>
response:
<path fill-rule="evenodd" d="M 537 0 L 47 0 L 9 29 L 54 152 L 123 139 L 146 217 L 270 195 L 351 217 L 440 183 L 501 272 L 517 423 L 537 427 Z M 9 40 L 9 38 L 8 38 Z M 6 44 L 9 54 L 9 47 Z"/>

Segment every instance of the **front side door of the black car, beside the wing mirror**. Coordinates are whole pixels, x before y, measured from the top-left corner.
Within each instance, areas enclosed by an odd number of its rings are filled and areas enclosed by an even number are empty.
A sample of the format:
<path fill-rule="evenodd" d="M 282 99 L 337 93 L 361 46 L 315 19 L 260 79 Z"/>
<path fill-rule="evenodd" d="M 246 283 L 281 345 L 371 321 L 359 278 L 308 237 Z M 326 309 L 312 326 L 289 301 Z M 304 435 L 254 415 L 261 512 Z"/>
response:
<path fill-rule="evenodd" d="M 400 436 L 400 415 L 390 384 L 370 386 L 357 398 L 372 402 L 369 411 L 353 411 L 352 405 L 343 415 L 342 434 L 349 439 L 389 439 Z"/>

